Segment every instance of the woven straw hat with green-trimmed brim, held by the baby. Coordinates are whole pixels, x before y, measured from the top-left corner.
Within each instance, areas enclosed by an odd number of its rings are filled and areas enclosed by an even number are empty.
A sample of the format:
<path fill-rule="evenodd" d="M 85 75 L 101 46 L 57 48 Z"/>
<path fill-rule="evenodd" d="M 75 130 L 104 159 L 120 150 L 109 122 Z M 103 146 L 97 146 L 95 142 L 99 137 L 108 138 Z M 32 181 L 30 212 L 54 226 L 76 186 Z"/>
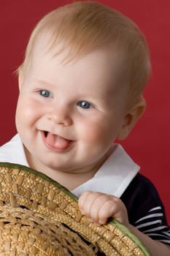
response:
<path fill-rule="evenodd" d="M 42 173 L 0 163 L 0 256 L 149 256 L 126 227 L 96 225 L 77 197 Z"/>

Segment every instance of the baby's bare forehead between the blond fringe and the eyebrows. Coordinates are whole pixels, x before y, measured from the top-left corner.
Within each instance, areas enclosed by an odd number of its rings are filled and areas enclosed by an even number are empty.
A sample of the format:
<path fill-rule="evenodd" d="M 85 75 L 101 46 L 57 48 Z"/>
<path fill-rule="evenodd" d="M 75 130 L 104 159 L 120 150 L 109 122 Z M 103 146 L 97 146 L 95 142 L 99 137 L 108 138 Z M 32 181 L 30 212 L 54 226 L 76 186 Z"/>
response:
<path fill-rule="evenodd" d="M 81 78 L 90 85 L 98 83 L 106 88 L 107 85 L 124 83 L 128 70 L 123 51 L 113 47 L 100 48 L 70 58 L 69 48 L 61 51 L 63 42 L 53 48 L 49 47 L 49 42 L 49 34 L 44 33 L 37 38 L 31 54 L 29 75 L 46 80 L 70 76 L 70 79 L 79 81 Z"/>

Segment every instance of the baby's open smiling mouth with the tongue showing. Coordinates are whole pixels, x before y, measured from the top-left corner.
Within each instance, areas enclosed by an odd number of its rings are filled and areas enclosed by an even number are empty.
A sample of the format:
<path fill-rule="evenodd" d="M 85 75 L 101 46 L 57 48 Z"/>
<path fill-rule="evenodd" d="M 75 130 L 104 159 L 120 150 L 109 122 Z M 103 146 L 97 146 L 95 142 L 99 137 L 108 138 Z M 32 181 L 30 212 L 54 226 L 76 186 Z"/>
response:
<path fill-rule="evenodd" d="M 51 132 L 42 132 L 42 138 L 47 146 L 47 148 L 50 148 L 53 151 L 63 152 L 68 149 L 73 140 L 67 140 L 66 138 L 63 138 L 59 135 L 54 135 Z"/>

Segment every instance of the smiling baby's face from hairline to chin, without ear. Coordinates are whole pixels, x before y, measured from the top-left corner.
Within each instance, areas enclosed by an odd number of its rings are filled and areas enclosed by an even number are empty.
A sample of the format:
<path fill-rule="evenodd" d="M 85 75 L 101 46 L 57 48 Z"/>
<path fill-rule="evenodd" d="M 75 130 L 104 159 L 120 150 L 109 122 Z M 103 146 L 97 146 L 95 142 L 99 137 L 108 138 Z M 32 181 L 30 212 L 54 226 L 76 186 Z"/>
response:
<path fill-rule="evenodd" d="M 123 56 L 96 50 L 63 64 L 65 53 L 37 45 L 21 77 L 16 125 L 26 156 L 53 170 L 88 171 L 112 147 L 125 121 Z"/>

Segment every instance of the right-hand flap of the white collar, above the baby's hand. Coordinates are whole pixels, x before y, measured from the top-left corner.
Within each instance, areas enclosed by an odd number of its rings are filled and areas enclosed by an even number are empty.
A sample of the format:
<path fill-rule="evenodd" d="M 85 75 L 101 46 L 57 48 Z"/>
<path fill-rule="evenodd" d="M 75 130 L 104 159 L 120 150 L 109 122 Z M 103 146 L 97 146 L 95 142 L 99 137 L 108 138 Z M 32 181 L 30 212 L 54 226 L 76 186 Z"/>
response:
<path fill-rule="evenodd" d="M 139 172 L 131 157 L 125 153 L 122 146 L 115 144 L 115 150 L 104 162 L 95 176 L 72 191 L 80 197 L 84 191 L 103 192 L 120 197 Z"/>

